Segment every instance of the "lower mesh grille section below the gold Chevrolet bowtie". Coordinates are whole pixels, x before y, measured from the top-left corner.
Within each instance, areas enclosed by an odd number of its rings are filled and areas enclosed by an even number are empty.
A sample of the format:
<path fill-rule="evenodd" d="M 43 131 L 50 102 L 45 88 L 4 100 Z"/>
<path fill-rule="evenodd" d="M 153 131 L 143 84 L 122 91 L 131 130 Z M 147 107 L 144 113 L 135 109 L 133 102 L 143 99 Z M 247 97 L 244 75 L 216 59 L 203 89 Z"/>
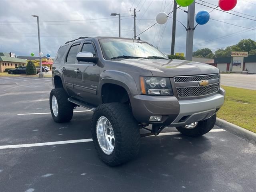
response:
<path fill-rule="evenodd" d="M 176 87 L 179 97 L 193 97 L 208 95 L 219 90 L 219 83 L 210 84 L 208 86 L 196 87 Z"/>

